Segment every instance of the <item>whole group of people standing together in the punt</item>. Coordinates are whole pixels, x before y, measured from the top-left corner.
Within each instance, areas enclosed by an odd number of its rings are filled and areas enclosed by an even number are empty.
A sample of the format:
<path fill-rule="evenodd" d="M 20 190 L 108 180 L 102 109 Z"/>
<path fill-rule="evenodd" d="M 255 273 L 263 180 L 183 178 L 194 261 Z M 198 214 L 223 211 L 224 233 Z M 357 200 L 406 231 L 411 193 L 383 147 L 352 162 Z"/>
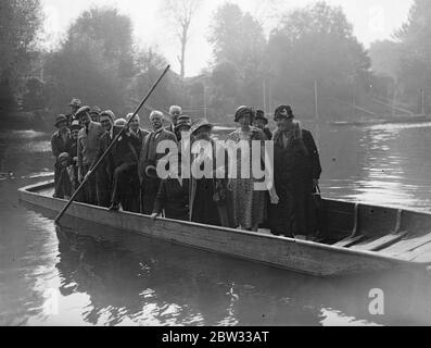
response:
<path fill-rule="evenodd" d="M 215 175 L 219 170 L 215 161 L 212 162 L 214 175 L 182 175 L 181 156 L 174 158 L 168 151 L 160 153 L 157 147 L 162 141 L 175 142 L 179 153 L 187 148 L 185 141 L 190 141 L 189 149 L 202 140 L 213 145 L 211 153 L 202 149 L 191 151 L 188 170 L 193 172 L 193 165 L 203 166 L 207 158 L 214 159 L 216 151 L 220 151 L 215 146 L 213 124 L 206 120 L 193 122 L 182 114 L 180 107 L 170 108 L 167 127 L 163 112 L 151 112 L 149 130 L 141 128 L 139 115 L 117 119 L 110 110 L 83 107 L 78 99 L 72 100 L 71 108 L 68 115 L 56 117 L 59 130 L 51 139 L 55 158 L 54 197 L 67 199 L 85 182 L 76 200 L 114 212 L 122 208 L 152 219 L 164 215 L 253 232 L 265 227 L 274 235 L 287 237 L 314 233 L 309 212 L 312 194 L 321 174 L 319 153 L 312 133 L 302 129 L 291 107 L 281 105 L 275 111 L 277 129 L 274 134 L 265 112 L 240 107 L 234 113 L 239 127 L 226 139 L 232 144 L 249 144 L 250 148 L 252 142 L 261 144 L 264 149 L 261 165 L 266 166 L 272 178 L 264 183 L 266 190 L 255 189 L 255 184 L 264 179 L 253 175 L 236 178 Z M 93 171 L 127 124 L 129 126 Z M 274 158 L 269 161 L 266 141 L 274 144 Z M 242 151 L 237 151 L 238 160 L 226 166 L 233 163 L 237 173 L 242 173 L 242 166 L 250 165 L 249 172 L 253 172 L 252 161 L 246 164 L 241 161 Z M 166 158 L 172 175 L 161 177 L 157 164 Z"/>

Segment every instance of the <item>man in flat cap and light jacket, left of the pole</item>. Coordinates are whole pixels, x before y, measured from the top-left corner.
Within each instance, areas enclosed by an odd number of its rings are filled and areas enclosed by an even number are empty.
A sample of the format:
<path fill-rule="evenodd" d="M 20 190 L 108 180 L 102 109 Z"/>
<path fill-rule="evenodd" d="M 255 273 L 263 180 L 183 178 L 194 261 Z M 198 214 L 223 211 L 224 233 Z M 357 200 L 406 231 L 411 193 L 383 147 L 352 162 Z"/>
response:
<path fill-rule="evenodd" d="M 78 179 L 84 178 L 96 164 L 94 160 L 100 149 L 100 138 L 105 133 L 100 123 L 91 121 L 90 107 L 83 107 L 76 112 L 76 116 L 83 124 L 78 134 Z M 88 204 L 98 204 L 97 175 L 90 175 L 84 188 L 85 200 Z"/>

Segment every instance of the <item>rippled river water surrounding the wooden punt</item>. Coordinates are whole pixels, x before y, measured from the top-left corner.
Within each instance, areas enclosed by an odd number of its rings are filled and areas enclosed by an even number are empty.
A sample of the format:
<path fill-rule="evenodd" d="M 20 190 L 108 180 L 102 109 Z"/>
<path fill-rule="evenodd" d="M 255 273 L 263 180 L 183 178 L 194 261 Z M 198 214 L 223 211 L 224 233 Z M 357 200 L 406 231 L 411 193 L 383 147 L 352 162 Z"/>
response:
<path fill-rule="evenodd" d="M 431 124 L 324 127 L 329 198 L 431 212 Z M 321 279 L 74 220 L 55 228 L 21 206 L 52 178 L 49 135 L 0 133 L 1 325 L 431 324 L 431 282 L 389 272 Z M 79 234 L 78 234 L 79 233 Z M 372 315 L 370 291 L 384 294 Z"/>

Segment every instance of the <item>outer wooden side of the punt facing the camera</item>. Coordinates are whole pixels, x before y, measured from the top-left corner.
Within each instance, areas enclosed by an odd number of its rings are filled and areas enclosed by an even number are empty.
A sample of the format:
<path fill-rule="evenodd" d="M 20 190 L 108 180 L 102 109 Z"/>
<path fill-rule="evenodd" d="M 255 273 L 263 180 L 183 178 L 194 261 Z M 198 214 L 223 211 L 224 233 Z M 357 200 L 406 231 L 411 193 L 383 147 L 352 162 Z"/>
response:
<path fill-rule="evenodd" d="M 53 187 L 42 183 L 20 189 L 20 200 L 31 208 L 42 208 L 53 214 L 66 200 L 40 194 Z M 421 269 L 430 262 L 411 262 L 390 254 L 352 250 L 313 241 L 277 237 L 263 233 L 179 222 L 167 219 L 153 221 L 150 216 L 111 212 L 105 208 L 74 202 L 66 215 L 107 225 L 119 233 L 134 233 L 164 239 L 192 248 L 245 259 L 267 265 L 315 276 L 334 276 L 377 272 L 393 269 Z"/>

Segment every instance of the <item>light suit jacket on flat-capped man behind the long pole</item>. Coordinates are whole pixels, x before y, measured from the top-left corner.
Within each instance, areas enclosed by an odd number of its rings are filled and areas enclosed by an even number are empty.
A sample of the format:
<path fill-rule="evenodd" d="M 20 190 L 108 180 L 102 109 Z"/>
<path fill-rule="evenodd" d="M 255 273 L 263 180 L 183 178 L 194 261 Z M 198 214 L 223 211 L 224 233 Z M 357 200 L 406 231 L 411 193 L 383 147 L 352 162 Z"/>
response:
<path fill-rule="evenodd" d="M 88 133 L 86 127 L 79 130 L 78 135 L 78 165 L 90 166 L 100 148 L 100 138 L 105 134 L 105 129 L 100 123 L 90 122 Z"/>

